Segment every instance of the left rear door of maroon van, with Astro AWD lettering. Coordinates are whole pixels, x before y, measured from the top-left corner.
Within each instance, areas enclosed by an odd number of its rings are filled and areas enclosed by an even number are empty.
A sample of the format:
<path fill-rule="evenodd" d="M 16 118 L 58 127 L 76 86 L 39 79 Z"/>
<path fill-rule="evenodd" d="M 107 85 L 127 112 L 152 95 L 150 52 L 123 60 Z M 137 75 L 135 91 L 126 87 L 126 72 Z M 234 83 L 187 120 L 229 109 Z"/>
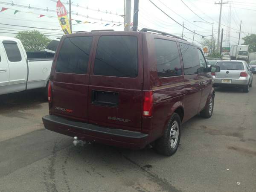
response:
<path fill-rule="evenodd" d="M 64 38 L 51 71 L 51 113 L 86 122 L 92 36 Z"/>

